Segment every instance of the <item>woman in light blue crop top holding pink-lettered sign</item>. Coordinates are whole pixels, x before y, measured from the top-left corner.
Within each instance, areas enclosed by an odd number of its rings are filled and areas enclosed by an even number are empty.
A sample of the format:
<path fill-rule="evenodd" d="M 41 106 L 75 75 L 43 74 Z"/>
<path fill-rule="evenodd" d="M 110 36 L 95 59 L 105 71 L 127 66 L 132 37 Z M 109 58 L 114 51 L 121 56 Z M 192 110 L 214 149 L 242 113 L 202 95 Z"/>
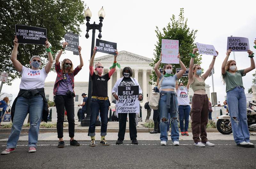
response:
<path fill-rule="evenodd" d="M 166 145 L 167 138 L 167 125 L 171 121 L 171 138 L 173 145 L 180 145 L 179 143 L 179 127 L 178 127 L 178 100 L 177 94 L 174 92 L 176 80 L 178 80 L 186 71 L 186 67 L 180 60 L 178 55 L 181 70 L 177 74 L 172 73 L 172 64 L 165 64 L 163 74 L 158 70 L 162 61 L 162 53 L 159 61 L 155 65 L 156 76 L 160 80 L 161 92 L 158 110 L 160 113 L 160 140 L 161 145 Z M 170 117 L 168 115 L 170 114 Z"/>

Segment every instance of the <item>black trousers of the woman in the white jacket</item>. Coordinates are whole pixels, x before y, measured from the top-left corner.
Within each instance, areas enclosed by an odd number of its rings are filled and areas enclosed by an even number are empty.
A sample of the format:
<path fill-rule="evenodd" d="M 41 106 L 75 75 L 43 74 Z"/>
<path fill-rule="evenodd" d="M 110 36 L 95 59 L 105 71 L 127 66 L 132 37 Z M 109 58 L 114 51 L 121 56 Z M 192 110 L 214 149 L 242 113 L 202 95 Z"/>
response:
<path fill-rule="evenodd" d="M 126 129 L 126 119 L 127 113 L 119 113 L 119 131 L 118 131 L 118 138 L 120 140 L 124 140 L 124 134 Z M 130 139 L 137 138 L 137 129 L 136 129 L 136 113 L 129 113 L 129 130 L 130 130 Z"/>

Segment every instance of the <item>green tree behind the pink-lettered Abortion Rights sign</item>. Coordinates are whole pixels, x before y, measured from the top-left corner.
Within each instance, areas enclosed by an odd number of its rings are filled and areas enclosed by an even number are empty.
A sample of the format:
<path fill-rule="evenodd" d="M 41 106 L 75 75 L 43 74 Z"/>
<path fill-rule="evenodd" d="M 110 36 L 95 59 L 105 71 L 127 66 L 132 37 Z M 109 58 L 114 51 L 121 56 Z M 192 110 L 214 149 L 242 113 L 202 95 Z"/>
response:
<path fill-rule="evenodd" d="M 188 19 L 184 18 L 184 10 L 183 8 L 180 9 L 179 19 L 176 20 L 175 16 L 172 15 L 171 22 L 168 23 L 166 28 L 163 28 L 163 33 L 159 31 L 158 27 L 156 26 L 156 36 L 158 41 L 156 42 L 156 49 L 154 52 L 153 63 L 150 64 L 151 67 L 154 68 L 156 62 L 159 60 L 159 56 L 161 54 L 161 46 L 162 46 L 162 39 L 173 39 L 179 40 L 179 52 L 180 52 L 180 60 L 185 64 L 187 68 L 189 68 L 190 57 L 189 53 L 192 53 L 193 48 L 196 48 L 195 38 L 197 30 L 190 30 L 187 25 Z M 202 55 L 196 54 L 195 57 L 195 64 L 201 64 Z M 160 64 L 160 68 L 163 68 L 164 64 Z M 172 64 L 173 73 L 176 73 L 176 68 L 180 68 L 180 64 Z M 153 84 L 156 82 L 157 77 L 155 71 L 152 72 L 150 76 L 151 82 L 149 84 Z M 184 85 L 188 83 L 188 77 L 181 77 L 179 79 Z"/>

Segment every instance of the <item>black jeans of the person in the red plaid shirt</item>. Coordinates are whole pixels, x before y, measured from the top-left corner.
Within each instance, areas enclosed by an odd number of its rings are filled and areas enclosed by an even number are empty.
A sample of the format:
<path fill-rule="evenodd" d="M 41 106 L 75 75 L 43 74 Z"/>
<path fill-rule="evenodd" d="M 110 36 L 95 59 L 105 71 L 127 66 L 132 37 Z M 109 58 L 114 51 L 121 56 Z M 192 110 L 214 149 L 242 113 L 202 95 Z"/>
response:
<path fill-rule="evenodd" d="M 56 95 L 54 99 L 56 109 L 57 109 L 57 132 L 58 138 L 63 137 L 63 122 L 65 108 L 68 117 L 68 133 L 69 137 L 72 138 L 75 135 L 75 107 L 74 98 L 65 95 Z"/>

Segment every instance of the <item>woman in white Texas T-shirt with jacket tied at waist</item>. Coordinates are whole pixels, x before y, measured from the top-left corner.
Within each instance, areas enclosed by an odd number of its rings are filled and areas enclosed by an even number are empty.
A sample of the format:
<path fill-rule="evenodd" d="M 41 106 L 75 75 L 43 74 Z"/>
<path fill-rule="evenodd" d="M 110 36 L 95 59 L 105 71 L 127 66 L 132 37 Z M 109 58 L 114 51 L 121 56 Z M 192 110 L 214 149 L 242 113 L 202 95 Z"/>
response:
<path fill-rule="evenodd" d="M 45 41 L 45 47 L 48 54 L 48 62 L 43 69 L 39 69 L 42 60 L 39 56 L 32 56 L 26 68 L 17 60 L 18 39 L 15 36 L 13 40 L 11 61 L 21 75 L 20 92 L 12 104 L 11 118 L 12 131 L 7 141 L 7 149 L 1 154 L 9 154 L 15 151 L 20 136 L 20 130 L 27 117 L 30 115 L 30 129 L 28 132 L 28 152 L 36 152 L 36 143 L 40 122 L 43 117 L 47 121 L 48 105 L 44 93 L 44 81 L 51 70 L 53 58 L 48 40 Z"/>

